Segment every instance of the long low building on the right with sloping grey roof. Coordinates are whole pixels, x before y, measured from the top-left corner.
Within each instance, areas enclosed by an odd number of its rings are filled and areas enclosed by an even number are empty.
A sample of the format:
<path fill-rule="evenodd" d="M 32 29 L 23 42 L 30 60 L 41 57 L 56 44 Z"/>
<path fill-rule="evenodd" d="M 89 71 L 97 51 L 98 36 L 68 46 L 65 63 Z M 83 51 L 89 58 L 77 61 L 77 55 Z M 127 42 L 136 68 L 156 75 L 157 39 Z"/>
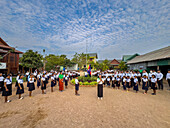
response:
<path fill-rule="evenodd" d="M 166 74 L 167 70 L 170 69 L 170 46 L 136 56 L 128 61 L 127 65 L 130 70 L 161 70 L 163 74 Z"/>

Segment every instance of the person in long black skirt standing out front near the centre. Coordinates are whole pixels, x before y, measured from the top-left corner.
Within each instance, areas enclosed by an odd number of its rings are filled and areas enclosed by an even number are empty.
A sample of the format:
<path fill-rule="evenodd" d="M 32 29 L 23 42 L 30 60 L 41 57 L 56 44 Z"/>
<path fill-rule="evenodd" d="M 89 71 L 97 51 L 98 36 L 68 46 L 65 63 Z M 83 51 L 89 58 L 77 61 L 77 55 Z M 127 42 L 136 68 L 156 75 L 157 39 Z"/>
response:
<path fill-rule="evenodd" d="M 102 98 L 103 98 L 103 79 L 102 79 L 101 75 L 99 75 L 99 78 L 97 78 L 97 83 L 98 83 L 97 96 L 98 96 L 98 99 L 102 100 Z"/>

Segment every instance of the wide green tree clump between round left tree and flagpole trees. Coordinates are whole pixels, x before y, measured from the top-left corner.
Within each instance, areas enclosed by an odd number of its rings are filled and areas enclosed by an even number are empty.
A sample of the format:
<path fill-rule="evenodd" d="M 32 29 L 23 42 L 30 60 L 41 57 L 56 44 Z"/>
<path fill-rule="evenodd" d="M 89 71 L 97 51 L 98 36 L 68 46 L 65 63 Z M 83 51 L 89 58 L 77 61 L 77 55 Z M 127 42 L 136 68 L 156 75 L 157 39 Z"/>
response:
<path fill-rule="evenodd" d="M 63 66 L 63 67 L 71 67 L 74 63 L 70 61 L 70 59 L 67 59 L 66 55 L 53 55 L 50 54 L 48 56 L 45 57 L 45 61 L 46 61 L 46 70 L 51 70 L 51 69 L 55 69 L 57 66 Z"/>

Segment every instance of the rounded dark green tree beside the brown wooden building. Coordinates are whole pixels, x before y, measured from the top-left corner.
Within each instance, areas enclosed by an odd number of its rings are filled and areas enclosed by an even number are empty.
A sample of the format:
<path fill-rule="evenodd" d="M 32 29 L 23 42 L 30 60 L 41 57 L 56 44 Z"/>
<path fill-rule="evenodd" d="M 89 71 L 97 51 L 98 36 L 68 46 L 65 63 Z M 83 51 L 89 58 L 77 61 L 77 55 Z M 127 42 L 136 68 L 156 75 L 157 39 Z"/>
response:
<path fill-rule="evenodd" d="M 43 66 L 43 57 L 38 52 L 33 52 L 33 50 L 27 50 L 23 56 L 20 58 L 20 63 L 23 67 L 27 67 L 31 70 L 32 68 L 40 68 Z"/>

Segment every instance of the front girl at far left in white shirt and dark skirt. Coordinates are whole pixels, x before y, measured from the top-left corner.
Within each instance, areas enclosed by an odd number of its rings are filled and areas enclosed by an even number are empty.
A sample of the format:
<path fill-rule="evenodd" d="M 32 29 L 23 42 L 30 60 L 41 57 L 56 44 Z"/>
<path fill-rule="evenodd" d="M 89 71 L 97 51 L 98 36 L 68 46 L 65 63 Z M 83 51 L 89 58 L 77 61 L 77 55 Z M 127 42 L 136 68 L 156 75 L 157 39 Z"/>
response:
<path fill-rule="evenodd" d="M 8 96 L 12 95 L 12 81 L 10 80 L 10 75 L 7 76 L 7 78 L 4 80 L 4 87 L 2 96 L 5 97 L 5 103 L 11 102 L 11 100 L 8 100 Z"/>

